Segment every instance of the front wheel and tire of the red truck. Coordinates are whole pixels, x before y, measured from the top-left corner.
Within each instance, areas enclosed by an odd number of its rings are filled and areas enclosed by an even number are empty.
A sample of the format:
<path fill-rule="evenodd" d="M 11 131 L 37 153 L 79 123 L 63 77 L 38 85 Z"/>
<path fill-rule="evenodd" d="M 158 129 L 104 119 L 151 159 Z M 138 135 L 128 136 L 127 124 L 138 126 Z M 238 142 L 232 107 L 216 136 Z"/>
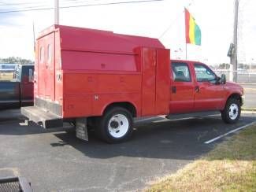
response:
<path fill-rule="evenodd" d="M 241 114 L 241 105 L 238 99 L 229 98 L 223 111 L 221 111 L 222 120 L 226 124 L 235 124 Z"/>

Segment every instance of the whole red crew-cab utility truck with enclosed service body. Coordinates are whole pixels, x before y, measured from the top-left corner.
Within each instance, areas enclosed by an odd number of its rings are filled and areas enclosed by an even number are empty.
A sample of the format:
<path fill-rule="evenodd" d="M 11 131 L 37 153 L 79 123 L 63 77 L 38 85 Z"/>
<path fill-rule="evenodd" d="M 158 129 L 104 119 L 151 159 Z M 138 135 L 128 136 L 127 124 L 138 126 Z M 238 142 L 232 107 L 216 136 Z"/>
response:
<path fill-rule="evenodd" d="M 170 61 L 158 39 L 54 25 L 36 42 L 34 106 L 21 113 L 45 128 L 69 122 L 87 139 L 94 127 L 106 142 L 132 135 L 133 118 L 221 113 L 239 120 L 243 88 L 207 66 Z"/>

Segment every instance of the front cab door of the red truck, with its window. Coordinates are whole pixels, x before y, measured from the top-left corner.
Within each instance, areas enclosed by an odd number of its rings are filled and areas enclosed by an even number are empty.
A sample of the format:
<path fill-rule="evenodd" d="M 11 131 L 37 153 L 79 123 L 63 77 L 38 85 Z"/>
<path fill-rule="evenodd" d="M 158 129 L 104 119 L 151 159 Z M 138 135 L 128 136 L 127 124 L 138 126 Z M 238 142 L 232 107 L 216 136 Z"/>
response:
<path fill-rule="evenodd" d="M 195 63 L 195 111 L 220 110 L 224 105 L 226 91 L 217 76 L 206 65 Z"/>

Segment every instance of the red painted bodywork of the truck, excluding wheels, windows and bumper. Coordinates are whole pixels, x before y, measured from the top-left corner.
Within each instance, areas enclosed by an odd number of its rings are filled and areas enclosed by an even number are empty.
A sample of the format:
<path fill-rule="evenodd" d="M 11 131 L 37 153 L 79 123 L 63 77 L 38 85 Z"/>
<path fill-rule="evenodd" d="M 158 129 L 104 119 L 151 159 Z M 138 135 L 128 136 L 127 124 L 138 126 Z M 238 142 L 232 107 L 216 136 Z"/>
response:
<path fill-rule="evenodd" d="M 54 25 L 39 35 L 35 57 L 35 97 L 61 105 L 63 118 L 101 116 L 117 102 L 133 105 L 137 116 L 224 109 L 230 94 L 243 92 L 198 83 L 192 61 L 181 61 L 191 82 L 175 82 L 170 52 L 158 39 L 111 31 Z"/>

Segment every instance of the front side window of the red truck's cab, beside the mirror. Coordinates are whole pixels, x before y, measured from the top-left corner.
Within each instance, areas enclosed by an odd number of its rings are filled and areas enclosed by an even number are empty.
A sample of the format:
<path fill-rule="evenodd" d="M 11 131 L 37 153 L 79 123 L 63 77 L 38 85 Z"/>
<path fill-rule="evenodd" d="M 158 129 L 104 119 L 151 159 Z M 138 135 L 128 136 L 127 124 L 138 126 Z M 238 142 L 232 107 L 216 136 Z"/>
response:
<path fill-rule="evenodd" d="M 198 82 L 211 82 L 216 81 L 215 73 L 205 65 L 195 64 L 195 76 Z"/>

